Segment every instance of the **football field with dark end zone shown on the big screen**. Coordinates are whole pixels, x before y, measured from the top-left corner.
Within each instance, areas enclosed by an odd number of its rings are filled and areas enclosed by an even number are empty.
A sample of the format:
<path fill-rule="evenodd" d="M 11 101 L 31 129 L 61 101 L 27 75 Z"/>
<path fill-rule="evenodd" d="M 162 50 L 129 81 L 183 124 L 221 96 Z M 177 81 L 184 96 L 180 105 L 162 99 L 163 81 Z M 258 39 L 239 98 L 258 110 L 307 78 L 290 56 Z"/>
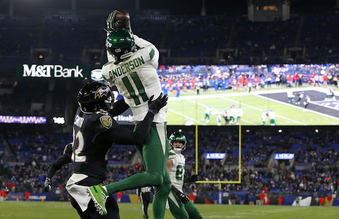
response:
<path fill-rule="evenodd" d="M 185 120 L 191 120 L 195 125 L 206 125 L 205 121 L 200 121 L 204 117 L 206 107 L 212 107 L 212 114 L 208 125 L 217 125 L 216 112 L 218 109 L 230 109 L 231 104 L 235 108 L 241 107 L 244 115 L 241 117 L 241 125 L 260 125 L 261 114 L 264 109 L 271 109 L 276 112 L 276 125 L 339 125 L 339 102 L 324 101 L 326 98 L 326 88 L 292 88 L 296 96 L 304 93 L 300 105 L 288 103 L 288 89 L 272 89 L 254 91 L 251 93 L 219 93 L 206 95 L 183 96 L 179 98 L 169 98 L 168 124 L 183 125 Z M 311 102 L 304 110 L 306 95 L 310 96 Z M 339 97 L 337 97 L 337 100 Z M 221 124 L 225 120 L 221 119 Z M 235 123 L 234 123 L 235 124 Z M 267 116 L 266 125 L 270 125 Z"/>

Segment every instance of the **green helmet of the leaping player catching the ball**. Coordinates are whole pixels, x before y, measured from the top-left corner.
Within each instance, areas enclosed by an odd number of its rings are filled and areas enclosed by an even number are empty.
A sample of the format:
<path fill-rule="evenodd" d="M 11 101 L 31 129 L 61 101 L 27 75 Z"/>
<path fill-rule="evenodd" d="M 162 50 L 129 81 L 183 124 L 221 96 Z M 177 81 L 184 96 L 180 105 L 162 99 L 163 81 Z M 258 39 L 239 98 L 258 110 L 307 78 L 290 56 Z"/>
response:
<path fill-rule="evenodd" d="M 126 29 L 116 29 L 107 36 L 106 48 L 117 60 L 124 60 L 133 55 L 136 44 Z"/>

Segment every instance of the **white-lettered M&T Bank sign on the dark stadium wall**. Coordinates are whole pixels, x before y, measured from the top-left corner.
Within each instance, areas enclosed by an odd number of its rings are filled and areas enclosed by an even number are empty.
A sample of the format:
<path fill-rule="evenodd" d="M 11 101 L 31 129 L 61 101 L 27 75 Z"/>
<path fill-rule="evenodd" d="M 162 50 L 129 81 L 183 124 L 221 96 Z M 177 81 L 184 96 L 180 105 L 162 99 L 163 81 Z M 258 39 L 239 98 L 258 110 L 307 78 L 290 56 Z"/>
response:
<path fill-rule="evenodd" d="M 62 65 L 27 65 L 16 68 L 16 75 L 24 78 L 88 78 L 90 76 L 87 66 Z"/>

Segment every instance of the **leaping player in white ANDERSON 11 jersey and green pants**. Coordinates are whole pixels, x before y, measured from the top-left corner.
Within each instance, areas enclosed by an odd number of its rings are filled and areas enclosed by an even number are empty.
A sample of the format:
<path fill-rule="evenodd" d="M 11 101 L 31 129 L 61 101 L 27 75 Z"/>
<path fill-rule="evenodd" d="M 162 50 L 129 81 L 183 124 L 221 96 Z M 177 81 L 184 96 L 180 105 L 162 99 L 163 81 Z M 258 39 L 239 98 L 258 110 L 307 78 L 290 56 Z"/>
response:
<path fill-rule="evenodd" d="M 136 45 L 140 49 L 136 49 Z M 113 30 L 107 37 L 108 52 L 115 62 L 102 67 L 102 76 L 110 86 L 115 85 L 125 102 L 131 107 L 133 118 L 130 122 L 138 124 L 148 112 L 147 102 L 151 96 L 161 96 L 162 87 L 157 73 L 159 51 L 150 42 L 136 35 L 131 37 L 126 29 Z M 150 133 L 143 144 L 136 144 L 147 173 L 135 174 L 128 179 L 90 188 L 92 199 L 99 203 L 98 211 L 105 214 L 103 197 L 118 191 L 155 186 L 153 218 L 163 219 L 166 200 L 170 192 L 169 173 L 166 164 L 169 156 L 167 132 L 168 106 L 154 116 Z"/>

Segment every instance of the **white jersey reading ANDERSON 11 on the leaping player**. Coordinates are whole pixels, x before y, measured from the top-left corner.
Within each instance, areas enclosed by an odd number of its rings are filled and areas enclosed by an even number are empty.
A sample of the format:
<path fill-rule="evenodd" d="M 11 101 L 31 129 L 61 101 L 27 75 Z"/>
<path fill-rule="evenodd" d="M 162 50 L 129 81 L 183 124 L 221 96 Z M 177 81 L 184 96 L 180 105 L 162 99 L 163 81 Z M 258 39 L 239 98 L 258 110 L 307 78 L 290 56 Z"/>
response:
<path fill-rule="evenodd" d="M 131 107 L 133 118 L 130 122 L 138 123 L 144 120 L 149 106 L 148 100 L 154 95 L 157 99 L 162 93 L 160 79 L 157 73 L 159 51 L 150 42 L 133 35 L 138 46 L 142 47 L 128 59 L 118 64 L 106 63 L 101 70 L 103 78 L 110 87 L 115 85 L 125 102 Z M 155 116 L 154 122 L 165 122 L 168 105 Z"/>

